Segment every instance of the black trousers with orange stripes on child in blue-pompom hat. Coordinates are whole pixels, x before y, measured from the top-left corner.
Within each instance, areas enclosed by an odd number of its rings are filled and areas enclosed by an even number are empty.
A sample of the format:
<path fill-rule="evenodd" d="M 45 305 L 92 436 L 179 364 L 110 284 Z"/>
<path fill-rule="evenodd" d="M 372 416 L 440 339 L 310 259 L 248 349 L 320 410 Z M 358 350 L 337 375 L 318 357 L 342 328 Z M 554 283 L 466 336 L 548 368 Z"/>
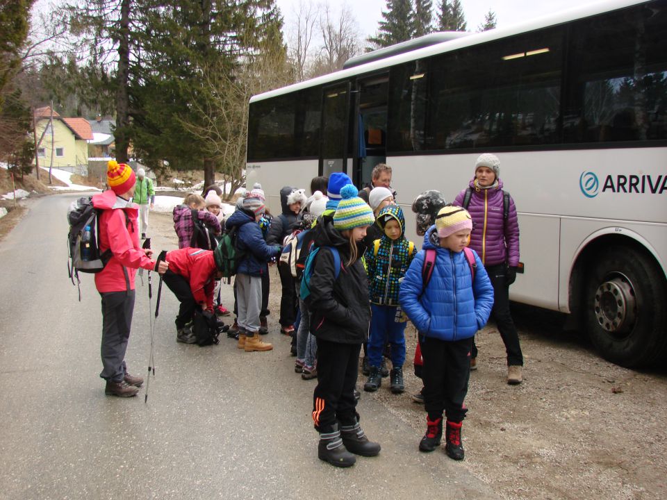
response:
<path fill-rule="evenodd" d="M 331 432 L 336 422 L 356 422 L 354 387 L 359 372 L 361 344 L 318 341 L 318 385 L 313 392 L 313 424 L 319 432 Z"/>

